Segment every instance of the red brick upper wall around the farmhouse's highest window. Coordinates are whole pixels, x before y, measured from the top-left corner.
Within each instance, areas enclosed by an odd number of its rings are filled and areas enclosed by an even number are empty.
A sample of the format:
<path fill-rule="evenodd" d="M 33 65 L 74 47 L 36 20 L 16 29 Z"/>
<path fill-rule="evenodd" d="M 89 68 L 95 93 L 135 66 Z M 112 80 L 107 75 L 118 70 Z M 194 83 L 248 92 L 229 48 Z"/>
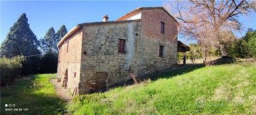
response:
<path fill-rule="evenodd" d="M 165 23 L 165 33 L 160 32 L 160 22 Z M 162 9 L 143 9 L 141 15 L 143 35 L 160 41 L 177 44 L 177 23 Z"/>

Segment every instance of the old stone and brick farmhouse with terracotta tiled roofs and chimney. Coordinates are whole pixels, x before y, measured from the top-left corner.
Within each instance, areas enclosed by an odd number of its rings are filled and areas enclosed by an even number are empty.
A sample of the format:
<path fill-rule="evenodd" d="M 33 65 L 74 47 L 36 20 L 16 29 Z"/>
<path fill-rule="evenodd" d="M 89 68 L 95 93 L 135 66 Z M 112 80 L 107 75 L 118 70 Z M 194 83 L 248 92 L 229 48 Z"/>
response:
<path fill-rule="evenodd" d="M 143 77 L 172 68 L 177 65 L 178 26 L 164 7 L 141 7 L 115 21 L 106 15 L 103 22 L 78 24 L 57 45 L 57 76 L 76 95 L 125 83 L 131 73 Z"/>

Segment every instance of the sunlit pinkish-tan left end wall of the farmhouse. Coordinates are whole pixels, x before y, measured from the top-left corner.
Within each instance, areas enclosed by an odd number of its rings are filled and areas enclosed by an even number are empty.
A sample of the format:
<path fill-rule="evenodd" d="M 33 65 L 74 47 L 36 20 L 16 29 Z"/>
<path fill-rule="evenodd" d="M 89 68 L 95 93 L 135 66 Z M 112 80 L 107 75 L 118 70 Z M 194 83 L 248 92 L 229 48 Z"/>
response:
<path fill-rule="evenodd" d="M 80 80 L 82 31 L 75 33 L 71 36 L 71 38 L 67 39 L 67 41 L 65 41 L 65 43 L 63 43 L 59 49 L 57 76 L 61 78 L 61 83 L 63 83 L 65 71 L 68 70 L 67 87 L 73 91 L 75 87 L 79 86 Z M 67 47 L 67 45 L 69 46 Z"/>

